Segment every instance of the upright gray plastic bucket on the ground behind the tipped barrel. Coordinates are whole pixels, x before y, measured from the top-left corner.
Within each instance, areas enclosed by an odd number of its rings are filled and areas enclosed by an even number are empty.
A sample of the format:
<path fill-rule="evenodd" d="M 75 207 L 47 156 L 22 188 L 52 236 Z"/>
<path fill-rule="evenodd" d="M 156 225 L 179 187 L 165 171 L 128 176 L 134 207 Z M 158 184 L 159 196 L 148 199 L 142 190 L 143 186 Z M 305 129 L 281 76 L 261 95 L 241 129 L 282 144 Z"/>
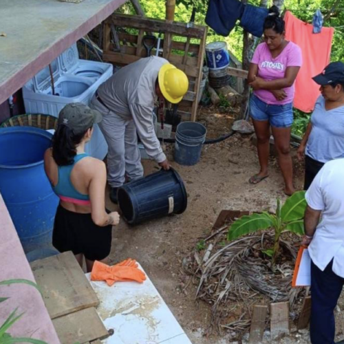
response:
<path fill-rule="evenodd" d="M 180 165 L 192 166 L 200 161 L 206 140 L 206 127 L 197 122 L 182 122 L 175 132 L 174 160 Z"/>

